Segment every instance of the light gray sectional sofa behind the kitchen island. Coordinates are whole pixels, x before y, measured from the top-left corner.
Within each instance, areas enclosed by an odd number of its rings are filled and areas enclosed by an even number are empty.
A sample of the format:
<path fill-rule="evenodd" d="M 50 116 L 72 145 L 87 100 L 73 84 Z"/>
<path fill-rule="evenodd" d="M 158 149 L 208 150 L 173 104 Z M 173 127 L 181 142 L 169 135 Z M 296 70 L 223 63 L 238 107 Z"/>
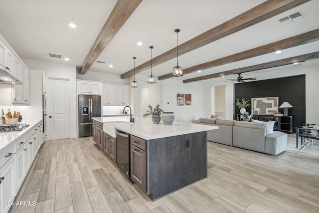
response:
<path fill-rule="evenodd" d="M 192 123 L 219 127 L 217 130 L 207 132 L 208 141 L 270 155 L 278 155 L 287 148 L 287 134 L 269 131 L 265 123 L 214 118 L 199 118 L 199 120 L 193 120 Z"/>

